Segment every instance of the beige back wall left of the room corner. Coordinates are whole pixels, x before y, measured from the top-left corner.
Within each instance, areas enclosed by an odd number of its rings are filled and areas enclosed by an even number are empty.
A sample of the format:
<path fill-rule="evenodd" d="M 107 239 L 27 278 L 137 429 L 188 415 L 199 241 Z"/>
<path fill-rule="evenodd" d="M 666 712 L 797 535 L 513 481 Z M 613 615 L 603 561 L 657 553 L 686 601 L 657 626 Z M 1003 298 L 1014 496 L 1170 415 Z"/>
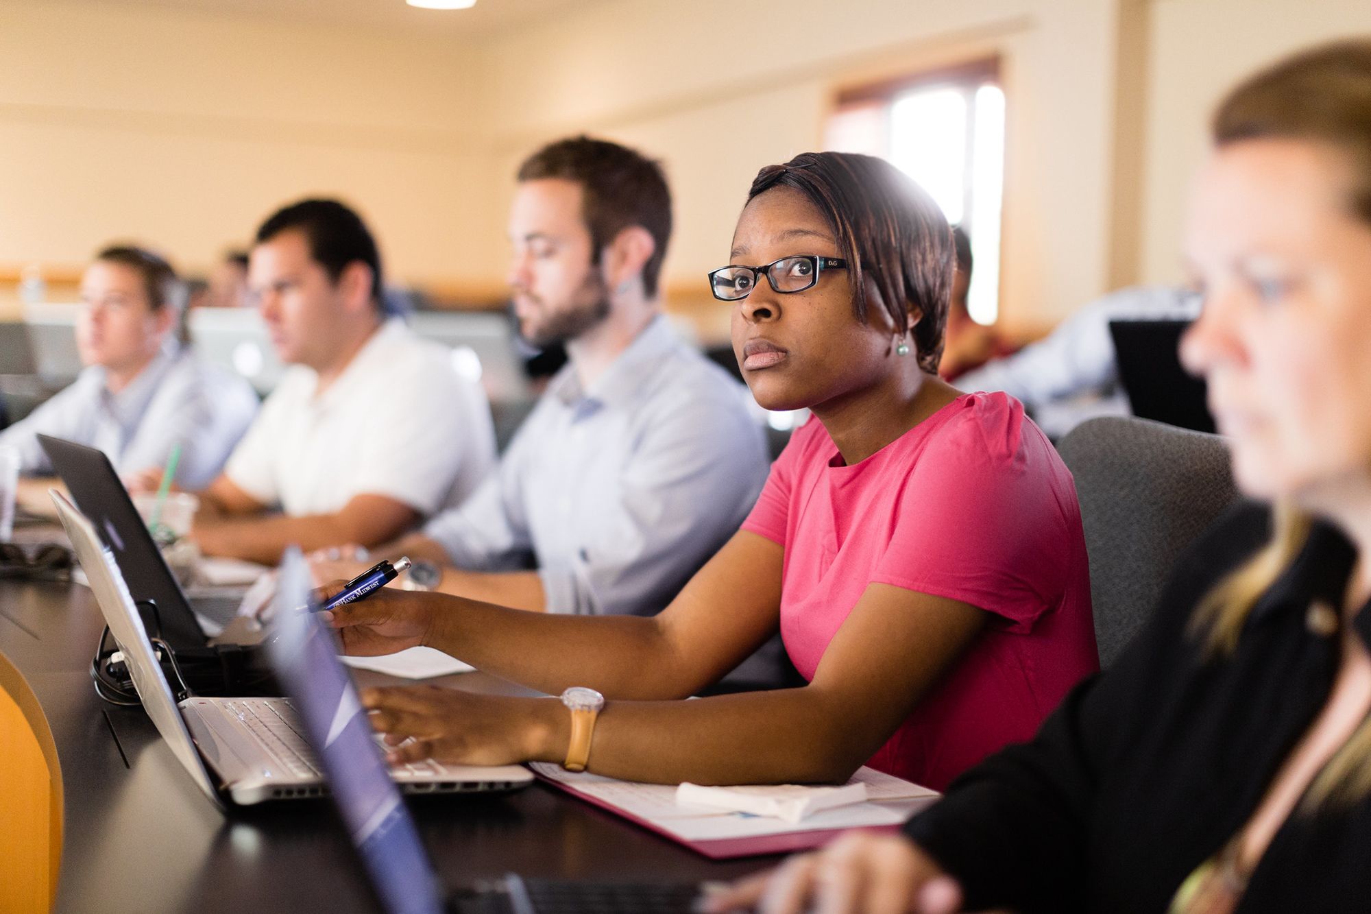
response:
<path fill-rule="evenodd" d="M 413 38 L 169 10 L 0 4 L 0 263 L 140 239 L 184 268 L 280 203 L 352 200 L 392 272 L 492 251 L 470 55 Z"/>

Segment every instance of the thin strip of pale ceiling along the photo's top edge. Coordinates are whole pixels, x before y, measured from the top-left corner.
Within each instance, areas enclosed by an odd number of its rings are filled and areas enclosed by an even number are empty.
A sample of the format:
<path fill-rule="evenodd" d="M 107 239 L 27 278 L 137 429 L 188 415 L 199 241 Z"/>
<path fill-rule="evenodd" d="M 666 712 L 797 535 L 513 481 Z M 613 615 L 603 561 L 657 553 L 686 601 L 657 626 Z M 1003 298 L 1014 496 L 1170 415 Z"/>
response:
<path fill-rule="evenodd" d="M 457 40 L 491 38 L 592 0 L 477 0 L 470 10 L 418 10 L 404 0 L 101 0 L 125 5 L 240 15 L 313 25 L 387 29 Z"/>

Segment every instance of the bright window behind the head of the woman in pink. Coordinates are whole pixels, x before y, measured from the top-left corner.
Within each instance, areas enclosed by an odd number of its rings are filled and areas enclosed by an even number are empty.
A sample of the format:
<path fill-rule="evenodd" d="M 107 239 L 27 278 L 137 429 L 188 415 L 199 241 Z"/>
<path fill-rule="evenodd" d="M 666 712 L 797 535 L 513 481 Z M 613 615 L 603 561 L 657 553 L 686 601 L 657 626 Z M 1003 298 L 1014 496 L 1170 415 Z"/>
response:
<path fill-rule="evenodd" d="M 1005 95 L 986 60 L 843 92 L 825 145 L 887 159 L 923 187 L 971 237 L 975 269 L 967 310 L 999 317 L 999 209 L 1005 174 Z"/>

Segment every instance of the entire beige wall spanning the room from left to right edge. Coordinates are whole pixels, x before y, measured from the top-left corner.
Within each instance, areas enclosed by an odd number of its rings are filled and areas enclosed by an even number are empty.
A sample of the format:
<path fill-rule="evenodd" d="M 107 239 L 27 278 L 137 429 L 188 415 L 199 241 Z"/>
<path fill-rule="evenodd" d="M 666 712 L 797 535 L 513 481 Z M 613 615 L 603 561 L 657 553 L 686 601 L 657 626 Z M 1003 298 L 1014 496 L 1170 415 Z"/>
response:
<path fill-rule="evenodd" d="M 396 279 L 498 290 L 517 162 L 588 130 L 665 161 L 666 280 L 690 305 L 751 176 L 814 148 L 839 88 L 994 54 L 1002 314 L 1031 331 L 1120 283 L 1174 280 L 1213 99 L 1356 32 L 1364 0 L 605 0 L 463 45 L 0 0 L 0 272 L 125 237 L 202 269 L 281 202 L 336 194 Z"/>

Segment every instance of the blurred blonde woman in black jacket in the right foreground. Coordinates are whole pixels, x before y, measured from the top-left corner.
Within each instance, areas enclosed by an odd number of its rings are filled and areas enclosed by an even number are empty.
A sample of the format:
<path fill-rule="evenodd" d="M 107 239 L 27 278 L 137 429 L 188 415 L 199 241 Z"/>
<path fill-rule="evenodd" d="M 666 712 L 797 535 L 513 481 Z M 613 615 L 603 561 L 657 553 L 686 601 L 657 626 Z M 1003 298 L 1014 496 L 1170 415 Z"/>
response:
<path fill-rule="evenodd" d="M 905 829 L 714 898 L 733 910 L 1287 914 L 1371 898 L 1371 41 L 1219 106 L 1180 344 L 1237 506 L 1126 655 Z"/>

